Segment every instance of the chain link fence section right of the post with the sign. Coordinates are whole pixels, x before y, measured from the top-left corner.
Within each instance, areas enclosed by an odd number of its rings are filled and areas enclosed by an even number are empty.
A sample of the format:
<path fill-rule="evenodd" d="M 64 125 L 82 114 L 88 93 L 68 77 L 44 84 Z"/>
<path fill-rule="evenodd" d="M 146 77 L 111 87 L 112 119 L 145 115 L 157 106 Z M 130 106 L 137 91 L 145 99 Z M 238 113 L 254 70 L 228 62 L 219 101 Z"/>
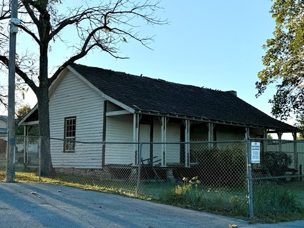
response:
<path fill-rule="evenodd" d="M 250 139 L 250 142 L 260 143 L 260 162 L 251 164 L 254 215 L 303 211 L 304 141 Z"/>

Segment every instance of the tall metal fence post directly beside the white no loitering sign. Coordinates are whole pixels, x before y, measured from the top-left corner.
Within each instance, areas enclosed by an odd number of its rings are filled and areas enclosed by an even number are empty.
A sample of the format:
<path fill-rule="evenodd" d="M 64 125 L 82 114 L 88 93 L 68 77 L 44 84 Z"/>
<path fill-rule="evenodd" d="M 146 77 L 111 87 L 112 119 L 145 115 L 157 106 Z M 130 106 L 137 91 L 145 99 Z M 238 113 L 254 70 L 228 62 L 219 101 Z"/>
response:
<path fill-rule="evenodd" d="M 250 136 L 246 133 L 246 155 L 247 155 L 247 183 L 248 183 L 248 206 L 249 216 L 253 217 L 253 192 L 252 192 L 252 174 L 251 174 L 251 149 L 250 149 Z"/>

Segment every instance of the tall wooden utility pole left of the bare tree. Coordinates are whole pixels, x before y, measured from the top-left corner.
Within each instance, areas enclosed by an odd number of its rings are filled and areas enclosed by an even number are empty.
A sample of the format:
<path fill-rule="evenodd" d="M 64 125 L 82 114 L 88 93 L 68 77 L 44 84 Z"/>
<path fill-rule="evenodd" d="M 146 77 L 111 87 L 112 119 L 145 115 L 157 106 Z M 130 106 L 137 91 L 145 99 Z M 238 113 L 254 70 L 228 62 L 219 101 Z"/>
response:
<path fill-rule="evenodd" d="M 10 56 L 9 56 L 9 103 L 8 103 L 8 146 L 6 182 L 15 181 L 15 62 L 16 62 L 16 36 L 20 23 L 18 19 L 18 0 L 11 3 L 11 29 L 10 29 Z"/>

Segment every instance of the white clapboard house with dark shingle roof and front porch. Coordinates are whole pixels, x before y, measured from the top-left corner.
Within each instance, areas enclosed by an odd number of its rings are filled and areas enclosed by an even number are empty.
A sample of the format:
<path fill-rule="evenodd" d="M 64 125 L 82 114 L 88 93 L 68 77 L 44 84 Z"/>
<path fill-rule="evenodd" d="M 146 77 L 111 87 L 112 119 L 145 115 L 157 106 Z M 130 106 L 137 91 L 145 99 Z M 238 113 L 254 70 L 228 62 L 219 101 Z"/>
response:
<path fill-rule="evenodd" d="M 52 145 L 53 166 L 101 168 L 107 164 L 138 165 L 138 146 L 107 144 L 84 149 L 74 141 L 188 142 L 243 140 L 245 133 L 295 133 L 237 97 L 218 91 L 124 72 L 71 64 L 49 90 L 50 133 L 66 139 Z M 19 123 L 38 124 L 37 105 Z M 26 132 L 26 131 L 25 131 Z M 188 144 L 144 144 L 142 158 L 154 165 L 191 165 Z M 64 159 L 64 163 L 56 163 Z"/>

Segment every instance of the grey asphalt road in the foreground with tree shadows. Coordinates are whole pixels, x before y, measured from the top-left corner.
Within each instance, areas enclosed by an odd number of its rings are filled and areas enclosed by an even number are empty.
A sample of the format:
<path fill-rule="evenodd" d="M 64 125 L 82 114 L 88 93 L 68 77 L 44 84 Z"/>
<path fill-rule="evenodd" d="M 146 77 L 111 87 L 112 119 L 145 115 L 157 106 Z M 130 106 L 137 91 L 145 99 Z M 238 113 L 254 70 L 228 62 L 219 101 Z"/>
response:
<path fill-rule="evenodd" d="M 0 227 L 304 227 L 254 224 L 112 194 L 43 183 L 0 182 Z"/>

